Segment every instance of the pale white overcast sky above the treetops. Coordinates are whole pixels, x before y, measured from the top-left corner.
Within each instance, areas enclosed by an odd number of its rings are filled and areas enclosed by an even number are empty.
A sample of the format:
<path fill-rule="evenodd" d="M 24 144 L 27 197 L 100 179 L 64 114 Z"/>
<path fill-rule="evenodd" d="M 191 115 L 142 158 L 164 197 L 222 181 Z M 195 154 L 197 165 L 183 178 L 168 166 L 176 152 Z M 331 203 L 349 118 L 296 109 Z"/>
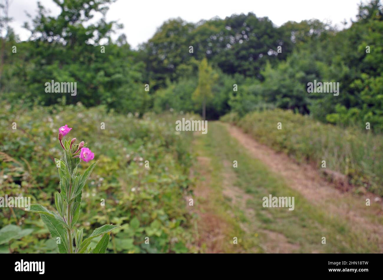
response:
<path fill-rule="evenodd" d="M 22 25 L 29 19 L 25 11 L 35 16 L 38 1 L 10 1 L 9 13 L 13 18 L 10 25 L 21 40 L 26 40 L 29 32 Z M 51 10 L 52 15 L 59 13 L 59 8 L 52 0 L 41 0 L 41 3 Z M 211 19 L 214 16 L 225 18 L 234 13 L 253 12 L 258 17 L 268 16 L 277 26 L 289 20 L 299 22 L 318 18 L 343 28 L 342 22 L 345 19 L 347 22 L 350 22 L 350 18 L 355 19 L 358 3 L 360 0 L 118 0 L 110 5 L 106 19 L 123 23 L 124 29 L 119 33 L 126 34 L 128 43 L 136 48 L 151 38 L 156 29 L 169 18 L 180 17 L 196 23 L 200 19 Z"/>

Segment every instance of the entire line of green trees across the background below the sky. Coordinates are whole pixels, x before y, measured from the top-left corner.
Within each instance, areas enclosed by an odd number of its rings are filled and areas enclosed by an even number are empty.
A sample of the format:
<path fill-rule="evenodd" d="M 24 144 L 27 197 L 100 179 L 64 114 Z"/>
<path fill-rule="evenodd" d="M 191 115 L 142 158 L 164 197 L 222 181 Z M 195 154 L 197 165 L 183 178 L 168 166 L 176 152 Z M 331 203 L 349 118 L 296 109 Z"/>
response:
<path fill-rule="evenodd" d="M 277 27 L 252 13 L 198 23 L 170 19 L 138 50 L 124 35 L 111 39 L 118 23 L 104 17 L 88 23 L 111 2 L 58 2 L 57 17 L 39 5 L 33 25 L 26 26 L 32 34 L 27 42 L 8 28 L 2 38 L 2 95 L 26 104 L 105 104 L 124 113 L 202 113 L 198 84 L 210 82 L 207 118 L 279 107 L 323 122 L 369 122 L 375 131 L 383 129 L 379 0 L 361 4 L 357 20 L 342 31 L 316 19 Z M 7 19 L 2 22 L 7 26 Z M 204 58 L 209 67 L 201 67 Z M 47 94 L 44 84 L 51 80 L 77 82 L 78 94 Z M 314 80 L 339 83 L 339 95 L 308 93 Z"/>

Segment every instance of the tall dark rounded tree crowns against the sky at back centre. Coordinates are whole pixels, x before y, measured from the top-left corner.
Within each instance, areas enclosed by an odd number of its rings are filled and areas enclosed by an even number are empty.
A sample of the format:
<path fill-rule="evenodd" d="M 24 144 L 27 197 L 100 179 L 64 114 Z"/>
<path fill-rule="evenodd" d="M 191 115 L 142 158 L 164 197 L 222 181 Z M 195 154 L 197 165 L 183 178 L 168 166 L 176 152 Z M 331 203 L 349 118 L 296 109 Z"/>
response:
<path fill-rule="evenodd" d="M 278 45 L 283 45 L 282 53 L 277 53 Z M 149 42 L 142 44 L 140 57 L 146 61 L 148 79 L 156 81 L 157 89 L 165 86 L 168 78 L 177 81 L 185 77 L 180 76 L 183 71 L 179 68 L 204 58 L 224 73 L 261 78 L 265 63 L 285 59 L 292 45 L 288 32 L 254 13 L 197 24 L 177 18 L 166 21 Z M 193 52 L 189 52 L 190 46 Z"/>

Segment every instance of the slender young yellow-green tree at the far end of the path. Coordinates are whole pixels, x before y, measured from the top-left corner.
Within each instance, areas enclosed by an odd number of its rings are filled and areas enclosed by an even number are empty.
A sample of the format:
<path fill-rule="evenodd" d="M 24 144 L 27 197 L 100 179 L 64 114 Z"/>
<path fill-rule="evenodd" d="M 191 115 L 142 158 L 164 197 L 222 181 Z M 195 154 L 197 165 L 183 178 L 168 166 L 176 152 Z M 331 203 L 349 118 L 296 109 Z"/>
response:
<path fill-rule="evenodd" d="M 213 72 L 213 68 L 204 58 L 198 65 L 198 86 L 193 92 L 192 99 L 202 103 L 202 117 L 206 119 L 206 102 L 213 98 L 211 86 L 216 82 L 218 75 Z"/>

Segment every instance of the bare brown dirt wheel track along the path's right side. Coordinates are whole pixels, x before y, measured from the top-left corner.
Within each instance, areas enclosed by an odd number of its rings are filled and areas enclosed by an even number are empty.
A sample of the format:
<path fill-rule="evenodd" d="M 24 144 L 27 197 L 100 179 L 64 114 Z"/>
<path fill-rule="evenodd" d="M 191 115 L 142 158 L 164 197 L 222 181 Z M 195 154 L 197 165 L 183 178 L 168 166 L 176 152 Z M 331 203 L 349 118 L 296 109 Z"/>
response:
<path fill-rule="evenodd" d="M 261 160 L 270 170 L 283 176 L 290 188 L 299 191 L 311 203 L 323 207 L 329 215 L 337 215 L 352 227 L 376 242 L 383 252 L 383 225 L 379 222 L 383 207 L 379 198 L 367 193 L 357 196 L 342 192 L 321 177 L 318 170 L 308 164 L 298 164 L 287 155 L 277 153 L 270 147 L 259 144 L 240 128 L 225 124 L 230 135 L 236 138 L 249 153 Z M 366 206 L 369 198 L 371 206 Z"/>

